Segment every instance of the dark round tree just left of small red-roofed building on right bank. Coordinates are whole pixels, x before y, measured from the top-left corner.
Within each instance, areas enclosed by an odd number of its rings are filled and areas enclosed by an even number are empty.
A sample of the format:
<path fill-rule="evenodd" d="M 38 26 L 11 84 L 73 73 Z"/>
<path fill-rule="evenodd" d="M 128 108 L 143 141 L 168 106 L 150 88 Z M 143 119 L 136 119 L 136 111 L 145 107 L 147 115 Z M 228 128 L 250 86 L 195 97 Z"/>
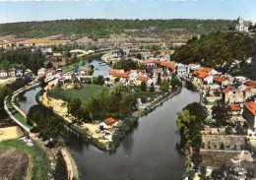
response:
<path fill-rule="evenodd" d="M 217 126 L 225 126 L 229 123 L 227 122 L 230 119 L 230 114 L 228 114 L 228 108 L 224 105 L 218 104 L 212 108 L 213 118 L 216 119 Z"/>

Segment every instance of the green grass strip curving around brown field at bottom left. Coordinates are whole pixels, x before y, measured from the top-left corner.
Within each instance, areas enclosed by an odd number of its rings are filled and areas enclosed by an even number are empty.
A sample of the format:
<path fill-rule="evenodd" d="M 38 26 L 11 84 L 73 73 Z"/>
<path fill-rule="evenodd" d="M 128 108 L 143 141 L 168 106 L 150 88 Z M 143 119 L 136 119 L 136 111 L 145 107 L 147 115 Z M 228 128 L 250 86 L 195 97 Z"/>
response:
<path fill-rule="evenodd" d="M 27 152 L 32 160 L 31 179 L 49 179 L 47 174 L 50 173 L 51 170 L 50 161 L 48 160 L 46 153 L 41 150 L 36 143 L 33 143 L 33 145 L 33 147 L 28 147 L 21 140 L 11 140 L 1 142 L 0 148 L 15 148 Z"/>

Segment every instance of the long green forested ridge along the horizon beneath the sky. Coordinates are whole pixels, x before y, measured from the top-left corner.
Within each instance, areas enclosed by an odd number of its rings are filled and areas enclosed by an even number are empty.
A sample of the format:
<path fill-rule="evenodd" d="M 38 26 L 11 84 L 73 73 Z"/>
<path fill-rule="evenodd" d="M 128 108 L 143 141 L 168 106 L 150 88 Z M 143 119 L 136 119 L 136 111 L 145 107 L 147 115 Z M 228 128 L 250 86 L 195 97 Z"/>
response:
<path fill-rule="evenodd" d="M 108 37 L 124 30 L 153 30 L 156 32 L 188 30 L 202 34 L 226 31 L 235 27 L 232 20 L 105 20 L 79 19 L 43 22 L 0 24 L 0 35 L 14 34 L 19 37 L 42 37 L 63 34 L 68 37 Z"/>

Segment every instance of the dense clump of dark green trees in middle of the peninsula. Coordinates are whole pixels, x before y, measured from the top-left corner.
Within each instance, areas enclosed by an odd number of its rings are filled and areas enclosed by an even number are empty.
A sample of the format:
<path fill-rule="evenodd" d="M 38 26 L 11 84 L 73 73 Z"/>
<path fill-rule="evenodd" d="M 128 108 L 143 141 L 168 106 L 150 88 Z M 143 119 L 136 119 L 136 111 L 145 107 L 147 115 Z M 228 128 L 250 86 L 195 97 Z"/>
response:
<path fill-rule="evenodd" d="M 112 90 L 104 89 L 98 97 L 82 104 L 80 98 L 68 100 L 68 111 L 83 122 L 107 117 L 124 118 L 136 109 L 137 97 L 132 90 L 116 84 Z"/>

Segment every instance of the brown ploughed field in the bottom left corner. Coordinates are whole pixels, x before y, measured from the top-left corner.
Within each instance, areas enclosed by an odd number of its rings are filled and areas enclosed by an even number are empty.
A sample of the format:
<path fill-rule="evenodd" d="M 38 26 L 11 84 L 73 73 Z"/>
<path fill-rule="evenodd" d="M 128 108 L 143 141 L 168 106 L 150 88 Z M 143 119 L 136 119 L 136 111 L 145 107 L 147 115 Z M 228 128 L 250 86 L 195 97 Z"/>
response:
<path fill-rule="evenodd" d="M 0 149 L 0 179 L 26 179 L 29 171 L 29 155 L 13 148 Z"/>

